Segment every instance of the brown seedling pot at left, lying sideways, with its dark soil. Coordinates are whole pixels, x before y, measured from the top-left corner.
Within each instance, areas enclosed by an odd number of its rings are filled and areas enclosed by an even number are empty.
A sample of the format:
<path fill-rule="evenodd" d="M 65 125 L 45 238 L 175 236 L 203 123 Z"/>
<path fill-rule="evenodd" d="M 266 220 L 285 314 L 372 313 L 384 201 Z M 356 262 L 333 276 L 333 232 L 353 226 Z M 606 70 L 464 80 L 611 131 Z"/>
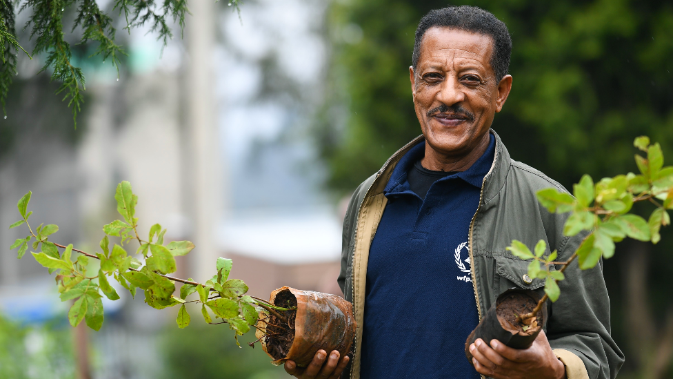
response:
<path fill-rule="evenodd" d="M 320 349 L 328 354 L 337 350 L 342 357 L 350 352 L 355 336 L 350 302 L 328 293 L 282 287 L 271 293 L 270 303 L 297 308 L 277 311 L 285 320 L 264 312 L 259 314 L 255 334 L 274 365 L 294 360 L 297 366 L 305 367 Z"/>

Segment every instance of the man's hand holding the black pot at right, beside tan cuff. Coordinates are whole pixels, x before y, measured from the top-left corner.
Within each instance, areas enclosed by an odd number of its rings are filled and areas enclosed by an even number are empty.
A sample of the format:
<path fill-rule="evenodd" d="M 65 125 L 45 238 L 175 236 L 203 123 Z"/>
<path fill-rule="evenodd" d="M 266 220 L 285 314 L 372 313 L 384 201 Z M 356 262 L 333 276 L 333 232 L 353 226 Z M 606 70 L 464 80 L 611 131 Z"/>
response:
<path fill-rule="evenodd" d="M 545 332 L 528 349 L 512 349 L 499 340 L 489 346 L 478 338 L 470 345 L 474 368 L 495 379 L 565 379 L 565 365 L 556 358 Z"/>

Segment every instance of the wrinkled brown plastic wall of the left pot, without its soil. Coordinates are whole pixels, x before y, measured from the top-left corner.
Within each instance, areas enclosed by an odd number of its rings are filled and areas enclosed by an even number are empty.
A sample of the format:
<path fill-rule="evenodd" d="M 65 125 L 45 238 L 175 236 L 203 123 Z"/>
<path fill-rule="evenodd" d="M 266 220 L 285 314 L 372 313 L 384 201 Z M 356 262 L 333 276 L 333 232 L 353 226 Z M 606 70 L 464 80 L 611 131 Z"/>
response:
<path fill-rule="evenodd" d="M 271 293 L 270 303 L 276 304 L 276 296 L 283 291 L 290 291 L 297 298 L 294 340 L 290 351 L 279 359 L 268 352 L 267 339 L 262 338 L 264 333 L 260 330 L 266 327 L 263 320 L 257 323 L 255 332 L 257 338 L 261 338 L 262 349 L 273 359 L 274 365 L 294 360 L 297 366 L 305 367 L 320 349 L 328 354 L 337 350 L 342 357 L 350 352 L 356 327 L 350 302 L 329 293 L 301 291 L 285 286 Z"/>

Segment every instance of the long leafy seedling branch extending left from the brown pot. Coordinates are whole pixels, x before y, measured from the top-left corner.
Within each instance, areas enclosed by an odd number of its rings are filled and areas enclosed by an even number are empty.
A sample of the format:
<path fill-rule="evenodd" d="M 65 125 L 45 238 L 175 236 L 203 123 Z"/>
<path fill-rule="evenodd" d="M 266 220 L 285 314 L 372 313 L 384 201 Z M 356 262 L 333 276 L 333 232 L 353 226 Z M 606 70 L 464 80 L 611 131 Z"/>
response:
<path fill-rule="evenodd" d="M 114 194 L 121 220 L 114 220 L 103 226 L 106 235 L 100 242 L 101 252 L 94 254 L 74 249 L 72 244 L 64 246 L 50 242 L 50 235 L 59 231 L 59 227 L 55 224 L 40 224 L 33 230 L 28 223 L 28 218 L 32 215 L 32 212 L 28 211 L 31 196 L 32 193 L 28 192 L 21 197 L 17 203 L 21 220 L 10 225 L 12 229 L 26 224 L 30 234 L 17 239 L 10 248 L 18 248 L 18 257 L 21 259 L 32 243 L 30 246 L 33 250 L 41 249 L 39 253 L 32 253 L 35 260 L 46 267 L 49 273 L 59 271 L 56 282 L 61 293 L 61 301 L 74 300 L 68 311 L 68 320 L 73 327 L 85 320 L 90 328 L 94 330 L 101 328 L 103 324 L 101 298 L 105 295 L 110 300 L 119 299 L 119 294 L 110 285 L 108 278 L 117 280 L 133 297 L 137 289 L 143 290 L 145 303 L 152 308 L 164 309 L 181 305 L 176 320 L 180 328 L 190 324 L 191 317 L 185 307 L 185 303 L 188 302 L 200 302 L 203 319 L 208 324 L 213 324 L 206 308 L 208 307 L 215 318 L 223 320 L 217 324 L 228 324 L 235 332 L 235 337 L 250 331 L 250 328 L 257 324 L 259 315 L 274 315 L 279 320 L 287 322 L 278 311 L 292 309 L 277 307 L 265 300 L 245 295 L 248 286 L 242 280 L 229 278 L 232 260 L 217 258 L 215 265 L 217 274 L 203 284 L 195 282 L 192 278 L 184 280 L 169 276 L 168 274 L 177 270 L 174 257 L 188 254 L 194 249 L 194 244 L 189 241 L 172 241 L 165 244 L 166 229 L 162 229 L 160 224 L 152 225 L 147 239 L 143 240 L 138 233 L 138 219 L 135 217 L 138 197 L 132 192 L 129 182 L 121 182 Z M 111 245 L 110 237 L 118 237 L 119 244 Z M 139 247 L 135 254 L 141 255 L 141 259 L 128 255 L 124 249 L 124 244 L 131 240 L 138 242 Z M 63 253 L 59 249 L 64 249 Z M 75 258 L 73 252 L 79 255 Z M 95 276 L 86 275 L 90 258 L 100 261 L 100 268 Z M 183 283 L 179 298 L 173 295 L 174 282 Z M 187 300 L 192 293 L 197 293 L 198 298 Z M 268 313 L 261 313 L 264 311 Z"/>

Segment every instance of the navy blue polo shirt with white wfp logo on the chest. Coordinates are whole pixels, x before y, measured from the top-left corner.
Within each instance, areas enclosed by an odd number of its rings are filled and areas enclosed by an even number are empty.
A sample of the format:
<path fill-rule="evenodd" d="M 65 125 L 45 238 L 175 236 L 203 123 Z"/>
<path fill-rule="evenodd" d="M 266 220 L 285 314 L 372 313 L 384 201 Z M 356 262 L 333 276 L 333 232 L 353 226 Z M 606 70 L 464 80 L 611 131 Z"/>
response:
<path fill-rule="evenodd" d="M 474 378 L 465 339 L 479 324 L 468 230 L 495 139 L 468 170 L 438 179 L 421 200 L 407 173 L 425 143 L 400 159 L 367 268 L 361 378 Z"/>

